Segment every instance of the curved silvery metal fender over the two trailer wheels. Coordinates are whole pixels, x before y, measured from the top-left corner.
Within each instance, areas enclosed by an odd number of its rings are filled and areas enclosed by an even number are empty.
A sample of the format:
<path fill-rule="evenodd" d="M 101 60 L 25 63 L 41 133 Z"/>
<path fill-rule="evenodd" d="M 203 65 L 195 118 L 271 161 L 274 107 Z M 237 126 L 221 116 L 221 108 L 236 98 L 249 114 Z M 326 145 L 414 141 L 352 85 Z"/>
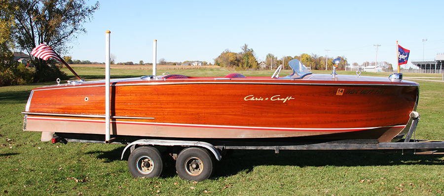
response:
<path fill-rule="evenodd" d="M 123 149 L 120 160 L 123 159 L 123 155 L 128 150 L 128 148 L 133 147 L 134 145 L 158 145 L 158 146 L 199 146 L 206 148 L 210 152 L 213 153 L 215 158 L 218 161 L 221 161 L 222 156 L 219 153 L 219 150 L 214 147 L 212 144 L 201 141 L 182 141 L 182 140 L 163 140 L 163 139 L 139 139 L 134 142 L 128 144 L 125 149 Z"/>

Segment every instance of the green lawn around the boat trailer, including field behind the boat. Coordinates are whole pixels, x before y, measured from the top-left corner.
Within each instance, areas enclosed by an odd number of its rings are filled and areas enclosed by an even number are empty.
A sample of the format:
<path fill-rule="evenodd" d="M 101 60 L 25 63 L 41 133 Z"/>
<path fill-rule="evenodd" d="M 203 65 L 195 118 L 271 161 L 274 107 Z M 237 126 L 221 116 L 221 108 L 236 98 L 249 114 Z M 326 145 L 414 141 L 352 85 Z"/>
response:
<path fill-rule="evenodd" d="M 103 78 L 104 69 L 77 68 L 85 79 Z M 141 73 L 147 71 L 147 73 Z M 158 73 L 223 76 L 232 71 L 159 70 Z M 271 76 L 274 71 L 239 71 Z M 325 71 L 315 71 L 323 73 Z M 331 72 L 331 71 L 330 71 Z M 328 73 L 330 73 L 328 72 Z M 355 74 L 354 72 L 338 72 Z M 150 75 L 150 70 L 112 69 L 113 78 Z M 362 73 L 387 77 L 390 73 Z M 285 74 L 281 74 L 285 75 Z M 409 74 L 405 74 L 407 77 Z M 410 77 L 428 77 L 414 74 Z M 72 75 L 71 75 L 72 76 Z M 421 85 L 417 139 L 444 139 L 444 83 Z M 213 177 L 203 182 L 181 180 L 174 162 L 164 175 L 135 179 L 120 160 L 124 145 L 40 141 L 40 132 L 22 131 L 31 89 L 54 82 L 0 87 L 0 196 L 9 195 L 316 195 L 419 196 L 443 195 L 443 155 L 375 154 L 357 151 L 236 151 L 216 165 Z"/>

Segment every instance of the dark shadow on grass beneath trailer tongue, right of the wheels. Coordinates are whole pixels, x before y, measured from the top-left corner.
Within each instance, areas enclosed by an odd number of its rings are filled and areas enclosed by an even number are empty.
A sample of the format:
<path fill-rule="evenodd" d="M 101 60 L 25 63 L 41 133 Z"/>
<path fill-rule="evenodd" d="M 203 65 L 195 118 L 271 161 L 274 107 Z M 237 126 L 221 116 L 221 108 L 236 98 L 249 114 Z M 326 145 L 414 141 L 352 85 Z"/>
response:
<path fill-rule="evenodd" d="M 274 151 L 239 150 L 232 157 L 216 162 L 213 177 L 251 172 L 259 165 L 290 166 L 377 166 L 377 165 L 444 165 L 443 155 L 381 154 L 363 151 Z"/>

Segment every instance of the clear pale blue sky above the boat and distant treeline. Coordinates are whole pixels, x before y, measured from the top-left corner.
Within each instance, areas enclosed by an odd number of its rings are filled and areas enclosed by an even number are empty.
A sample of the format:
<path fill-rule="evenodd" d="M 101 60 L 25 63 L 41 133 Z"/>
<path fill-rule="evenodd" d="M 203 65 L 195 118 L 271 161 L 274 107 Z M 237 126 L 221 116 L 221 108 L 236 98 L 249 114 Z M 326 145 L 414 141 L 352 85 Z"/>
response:
<path fill-rule="evenodd" d="M 86 0 L 87 5 L 96 1 Z M 69 54 L 74 60 L 105 62 L 105 32 L 111 31 L 115 62 L 157 60 L 214 64 L 224 50 L 247 44 L 258 61 L 309 55 L 345 56 L 347 63 L 397 64 L 396 41 L 414 60 L 444 53 L 443 0 L 125 0 L 99 1 Z M 423 41 L 427 39 L 427 41 Z M 377 57 L 376 57 L 376 46 Z"/>

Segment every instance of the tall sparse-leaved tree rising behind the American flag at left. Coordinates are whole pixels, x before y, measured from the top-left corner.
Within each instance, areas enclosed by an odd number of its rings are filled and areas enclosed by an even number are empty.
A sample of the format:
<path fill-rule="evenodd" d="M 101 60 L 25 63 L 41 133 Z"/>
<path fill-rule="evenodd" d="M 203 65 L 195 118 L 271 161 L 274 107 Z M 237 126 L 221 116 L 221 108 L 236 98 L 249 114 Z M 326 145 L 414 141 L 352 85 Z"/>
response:
<path fill-rule="evenodd" d="M 83 23 L 90 21 L 92 14 L 99 8 L 99 2 L 86 6 L 84 0 L 11 0 L 17 9 L 14 18 L 17 31 L 14 38 L 17 46 L 29 54 L 40 43 L 46 43 L 59 54 L 70 49 L 67 43 L 73 41 L 77 34 L 87 33 Z M 66 78 L 55 61 L 43 61 L 32 58 L 36 67 L 35 82 Z M 65 76 L 65 77 L 64 77 Z"/>

